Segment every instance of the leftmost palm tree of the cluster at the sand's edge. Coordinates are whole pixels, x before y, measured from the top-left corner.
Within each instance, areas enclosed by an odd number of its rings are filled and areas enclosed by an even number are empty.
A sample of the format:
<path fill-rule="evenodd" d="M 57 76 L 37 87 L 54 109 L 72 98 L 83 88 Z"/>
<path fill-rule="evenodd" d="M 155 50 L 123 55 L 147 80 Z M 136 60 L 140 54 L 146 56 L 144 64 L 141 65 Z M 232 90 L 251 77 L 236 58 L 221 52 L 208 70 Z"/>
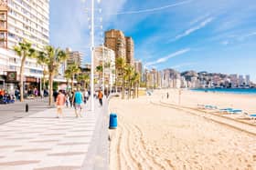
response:
<path fill-rule="evenodd" d="M 119 77 L 122 77 L 122 99 L 124 99 L 124 83 L 125 83 L 125 79 L 124 79 L 124 66 L 125 66 L 126 62 L 125 59 L 123 57 L 117 57 L 115 60 L 115 66 L 116 66 L 116 74 L 115 74 L 115 85 L 117 85 L 117 82 L 119 81 Z"/>

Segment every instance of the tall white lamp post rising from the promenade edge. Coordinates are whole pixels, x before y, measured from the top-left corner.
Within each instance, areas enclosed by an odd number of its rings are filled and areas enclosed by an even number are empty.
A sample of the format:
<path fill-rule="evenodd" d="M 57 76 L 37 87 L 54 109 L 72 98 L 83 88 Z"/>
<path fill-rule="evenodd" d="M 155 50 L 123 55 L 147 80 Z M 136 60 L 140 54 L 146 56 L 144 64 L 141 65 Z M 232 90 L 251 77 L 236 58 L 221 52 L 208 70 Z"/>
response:
<path fill-rule="evenodd" d="M 94 0 L 91 0 L 91 111 L 94 111 Z"/>

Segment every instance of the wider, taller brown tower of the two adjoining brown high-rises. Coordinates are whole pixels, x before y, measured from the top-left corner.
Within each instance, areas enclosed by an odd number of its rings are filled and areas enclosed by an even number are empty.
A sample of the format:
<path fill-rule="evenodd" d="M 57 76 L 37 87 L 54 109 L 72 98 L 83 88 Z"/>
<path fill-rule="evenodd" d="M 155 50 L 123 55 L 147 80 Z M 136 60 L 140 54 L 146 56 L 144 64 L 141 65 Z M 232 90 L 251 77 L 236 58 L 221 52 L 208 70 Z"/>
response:
<path fill-rule="evenodd" d="M 104 44 L 115 52 L 115 58 L 123 57 L 126 59 L 126 40 L 122 31 L 115 29 L 106 31 Z"/>

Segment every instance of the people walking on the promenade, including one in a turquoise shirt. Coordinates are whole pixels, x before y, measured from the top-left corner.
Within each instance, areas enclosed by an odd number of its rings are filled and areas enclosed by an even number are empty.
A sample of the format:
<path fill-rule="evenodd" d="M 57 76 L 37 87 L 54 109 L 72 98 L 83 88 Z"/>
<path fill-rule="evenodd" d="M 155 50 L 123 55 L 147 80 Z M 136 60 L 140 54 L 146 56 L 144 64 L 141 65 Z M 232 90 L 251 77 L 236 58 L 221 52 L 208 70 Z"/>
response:
<path fill-rule="evenodd" d="M 80 92 L 80 89 L 78 88 L 75 92 L 66 93 L 62 90 L 59 90 L 59 93 L 53 94 L 55 98 L 55 102 L 57 105 L 57 117 L 63 116 L 62 108 L 66 104 L 68 107 L 70 104 L 70 107 L 75 108 L 75 115 L 76 117 L 82 117 L 82 105 L 86 104 L 90 97 L 90 92 L 85 90 L 84 93 Z M 102 98 L 103 94 L 101 90 L 98 92 L 98 99 L 99 103 L 102 106 Z"/>

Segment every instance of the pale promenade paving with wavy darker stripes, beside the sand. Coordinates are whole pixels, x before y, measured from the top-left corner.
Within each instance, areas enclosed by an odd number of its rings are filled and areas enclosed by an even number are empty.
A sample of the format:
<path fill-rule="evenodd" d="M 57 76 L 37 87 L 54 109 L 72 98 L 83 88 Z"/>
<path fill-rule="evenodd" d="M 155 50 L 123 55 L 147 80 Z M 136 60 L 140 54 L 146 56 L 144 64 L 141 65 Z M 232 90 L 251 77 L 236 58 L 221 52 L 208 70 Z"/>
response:
<path fill-rule="evenodd" d="M 108 169 L 107 105 L 48 108 L 0 125 L 0 170 Z M 90 105 L 90 104 L 89 104 Z"/>

